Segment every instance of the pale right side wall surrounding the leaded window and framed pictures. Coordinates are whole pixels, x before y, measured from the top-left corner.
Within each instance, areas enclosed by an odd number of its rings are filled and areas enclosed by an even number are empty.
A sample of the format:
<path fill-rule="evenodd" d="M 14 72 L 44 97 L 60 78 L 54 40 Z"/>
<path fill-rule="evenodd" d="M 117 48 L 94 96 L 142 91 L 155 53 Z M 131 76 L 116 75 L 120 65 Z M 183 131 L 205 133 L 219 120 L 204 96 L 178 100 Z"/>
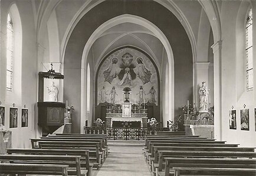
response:
<path fill-rule="evenodd" d="M 254 90 L 247 92 L 245 83 L 245 15 L 250 4 L 241 1 L 223 1 L 221 9 L 222 25 L 222 140 L 228 143 L 239 143 L 241 146 L 256 146 L 255 132 L 255 83 Z M 254 14 L 256 6 L 254 4 Z M 254 18 L 254 23 L 256 20 Z M 254 29 L 255 29 L 254 25 Z M 256 43 L 256 30 L 254 30 Z M 254 46 L 254 60 L 256 60 Z M 255 64 L 255 63 L 254 63 Z M 256 77 L 254 69 L 254 77 Z M 250 109 L 250 131 L 241 130 L 240 110 L 246 104 Z M 229 130 L 229 110 L 237 109 L 237 130 Z"/>

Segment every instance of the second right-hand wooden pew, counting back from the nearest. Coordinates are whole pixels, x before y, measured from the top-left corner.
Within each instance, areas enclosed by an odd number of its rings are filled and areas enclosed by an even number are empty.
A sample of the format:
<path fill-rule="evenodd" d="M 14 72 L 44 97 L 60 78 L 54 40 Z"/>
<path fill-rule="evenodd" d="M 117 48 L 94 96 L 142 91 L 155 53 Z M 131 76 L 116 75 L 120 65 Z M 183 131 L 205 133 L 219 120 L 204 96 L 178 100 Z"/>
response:
<path fill-rule="evenodd" d="M 169 176 L 173 167 L 226 167 L 256 168 L 256 159 L 248 158 L 173 158 L 165 157 L 165 176 Z M 163 175 L 163 173 L 159 173 Z"/>

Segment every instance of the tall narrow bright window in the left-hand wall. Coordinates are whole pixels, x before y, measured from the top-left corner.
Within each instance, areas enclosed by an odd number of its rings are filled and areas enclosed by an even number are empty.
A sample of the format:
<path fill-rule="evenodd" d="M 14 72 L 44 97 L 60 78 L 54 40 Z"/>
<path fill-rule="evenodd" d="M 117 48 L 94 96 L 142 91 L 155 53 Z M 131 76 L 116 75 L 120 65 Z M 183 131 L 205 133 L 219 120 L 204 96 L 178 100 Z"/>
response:
<path fill-rule="evenodd" d="M 14 65 L 14 26 L 12 18 L 7 17 L 7 41 L 6 41 L 6 90 L 12 91 Z"/>

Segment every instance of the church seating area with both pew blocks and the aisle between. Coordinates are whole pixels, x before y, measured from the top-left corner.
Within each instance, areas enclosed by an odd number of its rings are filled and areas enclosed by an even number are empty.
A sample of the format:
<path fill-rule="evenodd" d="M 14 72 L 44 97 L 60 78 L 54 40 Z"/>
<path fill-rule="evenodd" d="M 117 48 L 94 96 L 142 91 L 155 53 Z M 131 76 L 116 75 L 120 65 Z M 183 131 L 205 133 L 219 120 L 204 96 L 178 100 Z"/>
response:
<path fill-rule="evenodd" d="M 185 131 L 156 131 L 140 141 L 107 138 L 106 134 L 31 138 L 32 148 L 8 148 L 7 154 L 0 155 L 0 174 L 256 174 L 255 147 L 238 147 L 227 141 L 186 135 Z"/>

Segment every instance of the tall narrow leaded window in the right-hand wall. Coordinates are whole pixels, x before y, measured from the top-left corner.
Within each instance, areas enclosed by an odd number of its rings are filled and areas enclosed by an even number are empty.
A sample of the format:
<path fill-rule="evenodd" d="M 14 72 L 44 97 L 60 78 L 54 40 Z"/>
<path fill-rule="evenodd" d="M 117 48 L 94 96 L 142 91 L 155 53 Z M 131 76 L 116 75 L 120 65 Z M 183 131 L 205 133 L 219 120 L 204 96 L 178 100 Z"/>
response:
<path fill-rule="evenodd" d="M 246 87 L 247 91 L 253 89 L 253 63 L 252 63 L 252 9 L 248 12 L 245 25 L 245 57 L 246 57 Z"/>

